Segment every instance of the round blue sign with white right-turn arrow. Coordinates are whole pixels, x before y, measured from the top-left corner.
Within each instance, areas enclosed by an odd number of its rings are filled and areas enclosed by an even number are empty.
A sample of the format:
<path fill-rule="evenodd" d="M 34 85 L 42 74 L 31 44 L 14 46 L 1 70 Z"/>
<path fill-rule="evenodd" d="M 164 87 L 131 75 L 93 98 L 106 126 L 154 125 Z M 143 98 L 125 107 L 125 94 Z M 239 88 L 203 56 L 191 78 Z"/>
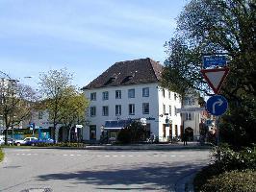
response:
<path fill-rule="evenodd" d="M 221 95 L 210 97 L 206 102 L 206 109 L 213 115 L 221 115 L 227 110 L 227 100 Z"/>

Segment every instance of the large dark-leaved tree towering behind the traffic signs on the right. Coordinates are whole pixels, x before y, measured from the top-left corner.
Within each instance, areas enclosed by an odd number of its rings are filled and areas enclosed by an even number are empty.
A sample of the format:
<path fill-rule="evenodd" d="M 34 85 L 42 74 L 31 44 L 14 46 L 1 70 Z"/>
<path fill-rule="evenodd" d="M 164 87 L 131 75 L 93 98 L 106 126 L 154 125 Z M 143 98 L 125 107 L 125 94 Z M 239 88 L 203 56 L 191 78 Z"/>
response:
<path fill-rule="evenodd" d="M 178 17 L 175 36 L 166 42 L 162 84 L 180 94 L 194 88 L 212 95 L 200 74 L 202 57 L 224 54 L 230 73 L 221 88 L 229 101 L 222 127 L 236 132 L 233 145 L 255 142 L 256 134 L 256 2 L 192 0 Z M 234 137 L 233 137 L 234 138 Z"/>

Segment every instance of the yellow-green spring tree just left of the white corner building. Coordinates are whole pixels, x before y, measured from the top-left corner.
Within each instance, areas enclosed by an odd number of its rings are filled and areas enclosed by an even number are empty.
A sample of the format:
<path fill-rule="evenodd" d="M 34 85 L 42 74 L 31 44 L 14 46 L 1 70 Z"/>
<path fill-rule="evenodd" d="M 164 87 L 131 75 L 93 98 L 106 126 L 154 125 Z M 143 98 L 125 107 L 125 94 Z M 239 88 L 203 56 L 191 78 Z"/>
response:
<path fill-rule="evenodd" d="M 88 106 L 87 100 L 71 84 L 72 74 L 66 69 L 50 70 L 40 74 L 40 91 L 45 108 L 53 124 L 53 139 L 56 141 L 58 124 L 70 128 L 75 121 L 82 122 Z"/>

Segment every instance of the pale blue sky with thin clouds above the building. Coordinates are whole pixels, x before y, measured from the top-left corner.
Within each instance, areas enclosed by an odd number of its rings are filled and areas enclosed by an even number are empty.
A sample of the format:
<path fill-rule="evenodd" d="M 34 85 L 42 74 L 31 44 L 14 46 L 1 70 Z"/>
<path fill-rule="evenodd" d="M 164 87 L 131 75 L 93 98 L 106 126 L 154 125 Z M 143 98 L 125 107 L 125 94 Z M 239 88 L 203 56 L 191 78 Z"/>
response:
<path fill-rule="evenodd" d="M 0 71 L 38 87 L 40 73 L 66 68 L 82 88 L 116 61 L 163 63 L 187 2 L 0 0 Z"/>

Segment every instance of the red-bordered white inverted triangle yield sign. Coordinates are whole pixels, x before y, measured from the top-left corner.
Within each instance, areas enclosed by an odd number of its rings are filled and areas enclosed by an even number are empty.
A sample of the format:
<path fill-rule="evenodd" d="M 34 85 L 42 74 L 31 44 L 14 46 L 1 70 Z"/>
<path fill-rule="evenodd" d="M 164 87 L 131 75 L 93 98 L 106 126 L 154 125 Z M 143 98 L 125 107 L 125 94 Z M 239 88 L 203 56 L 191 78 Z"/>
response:
<path fill-rule="evenodd" d="M 215 94 L 218 94 L 218 91 L 224 82 L 229 68 L 217 68 L 217 69 L 202 69 L 201 73 L 203 74 L 204 79 L 207 81 L 209 86 L 213 88 Z"/>

